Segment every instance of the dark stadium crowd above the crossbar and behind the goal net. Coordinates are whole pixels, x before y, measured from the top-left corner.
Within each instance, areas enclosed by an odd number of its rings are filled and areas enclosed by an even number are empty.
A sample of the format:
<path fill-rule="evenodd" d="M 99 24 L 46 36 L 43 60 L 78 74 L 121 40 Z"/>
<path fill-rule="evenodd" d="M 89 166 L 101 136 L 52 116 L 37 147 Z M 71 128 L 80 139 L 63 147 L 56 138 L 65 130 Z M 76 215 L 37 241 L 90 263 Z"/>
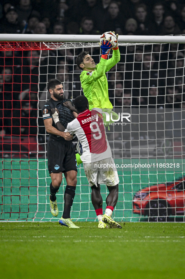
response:
<path fill-rule="evenodd" d="M 183 35 L 184 1 L 2 0 L 0 3 L 0 34 L 101 35 L 110 30 L 119 35 Z M 80 95 L 80 71 L 74 59 L 80 51 L 13 53 L 8 45 L 6 51 L 0 51 L 1 136 L 36 139 L 38 133 L 45 133 L 42 122 L 37 129 L 38 83 L 40 102 L 45 100 L 47 80 L 55 77 L 64 82 L 65 98 Z M 115 108 L 185 107 L 184 44 L 120 46 L 120 52 L 120 62 L 107 75 L 109 98 Z M 95 63 L 99 54 L 99 48 L 93 48 Z"/>

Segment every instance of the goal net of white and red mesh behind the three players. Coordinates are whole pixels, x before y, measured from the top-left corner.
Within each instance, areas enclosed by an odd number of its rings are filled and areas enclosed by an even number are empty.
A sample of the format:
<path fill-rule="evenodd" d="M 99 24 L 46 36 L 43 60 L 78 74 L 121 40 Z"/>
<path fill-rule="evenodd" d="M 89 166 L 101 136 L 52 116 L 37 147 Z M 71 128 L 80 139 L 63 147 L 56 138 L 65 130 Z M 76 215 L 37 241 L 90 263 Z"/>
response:
<path fill-rule="evenodd" d="M 16 42 L 5 35 L 0 42 L 0 220 L 57 221 L 49 209 L 48 135 L 41 114 L 50 98 L 46 85 L 57 78 L 64 98 L 83 94 L 75 58 L 86 50 L 98 64 L 99 38 L 64 35 L 51 42 L 48 35 L 23 35 Z M 184 36 L 119 36 L 121 59 L 107 73 L 119 119 L 106 127 L 120 179 L 117 221 L 184 221 L 184 43 Z M 59 218 L 64 188 L 57 193 Z M 101 193 L 105 210 L 105 185 Z M 97 220 L 83 164 L 71 217 Z"/>

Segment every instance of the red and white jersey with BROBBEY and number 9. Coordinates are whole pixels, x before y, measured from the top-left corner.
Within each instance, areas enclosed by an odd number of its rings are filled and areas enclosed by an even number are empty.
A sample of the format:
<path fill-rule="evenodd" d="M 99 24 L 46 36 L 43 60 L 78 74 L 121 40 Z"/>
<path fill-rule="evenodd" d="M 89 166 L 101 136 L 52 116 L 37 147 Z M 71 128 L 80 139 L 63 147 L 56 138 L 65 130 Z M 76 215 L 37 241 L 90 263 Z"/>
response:
<path fill-rule="evenodd" d="M 83 163 L 92 163 L 112 156 L 109 142 L 105 134 L 101 114 L 96 110 L 85 110 L 77 118 L 68 123 L 65 132 L 76 135 L 82 145 Z"/>

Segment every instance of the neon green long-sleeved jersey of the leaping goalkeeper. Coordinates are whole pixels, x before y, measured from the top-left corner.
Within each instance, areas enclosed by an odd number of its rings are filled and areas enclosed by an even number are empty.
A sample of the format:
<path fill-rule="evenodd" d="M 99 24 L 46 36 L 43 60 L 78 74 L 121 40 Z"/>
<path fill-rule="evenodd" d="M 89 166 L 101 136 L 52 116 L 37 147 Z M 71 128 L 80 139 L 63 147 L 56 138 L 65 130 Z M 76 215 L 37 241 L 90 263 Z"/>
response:
<path fill-rule="evenodd" d="M 119 49 L 113 50 L 110 59 L 100 59 L 94 71 L 82 71 L 80 81 L 85 97 L 89 101 L 89 109 L 112 109 L 109 101 L 108 82 L 106 72 L 120 61 Z"/>

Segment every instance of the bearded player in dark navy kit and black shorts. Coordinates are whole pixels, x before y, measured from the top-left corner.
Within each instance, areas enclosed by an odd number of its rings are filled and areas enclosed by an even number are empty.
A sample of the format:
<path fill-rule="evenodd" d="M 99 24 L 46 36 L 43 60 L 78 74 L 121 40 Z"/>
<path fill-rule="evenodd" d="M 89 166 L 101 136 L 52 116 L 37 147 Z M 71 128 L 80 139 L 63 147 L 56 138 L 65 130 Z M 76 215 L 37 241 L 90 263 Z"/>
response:
<path fill-rule="evenodd" d="M 59 214 L 56 193 L 59 190 L 64 173 L 67 185 L 64 192 L 64 212 L 59 224 L 69 228 L 79 228 L 70 219 L 70 209 L 75 197 L 77 183 L 75 148 L 72 142 L 73 137 L 64 132 L 67 124 L 74 120 L 77 114 L 71 100 L 64 99 L 61 81 L 57 79 L 50 80 L 47 89 L 51 98 L 45 103 L 42 114 L 46 131 L 49 133 L 47 154 L 48 170 L 51 176 L 50 210 L 54 216 Z M 56 128 L 56 123 L 60 126 L 60 131 Z"/>

